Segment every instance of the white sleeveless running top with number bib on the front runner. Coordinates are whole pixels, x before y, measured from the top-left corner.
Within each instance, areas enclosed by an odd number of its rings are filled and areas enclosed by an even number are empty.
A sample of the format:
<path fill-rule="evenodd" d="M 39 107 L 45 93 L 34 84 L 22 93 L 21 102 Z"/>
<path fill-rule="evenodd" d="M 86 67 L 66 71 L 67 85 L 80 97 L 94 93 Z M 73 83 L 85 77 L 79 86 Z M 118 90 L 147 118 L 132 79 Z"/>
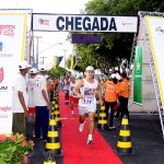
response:
<path fill-rule="evenodd" d="M 85 79 L 83 79 L 84 85 L 81 87 L 81 95 L 83 99 L 80 98 L 79 105 L 80 106 L 89 106 L 96 104 L 96 90 L 98 87 L 98 81 L 94 80 L 93 83 L 89 83 Z"/>

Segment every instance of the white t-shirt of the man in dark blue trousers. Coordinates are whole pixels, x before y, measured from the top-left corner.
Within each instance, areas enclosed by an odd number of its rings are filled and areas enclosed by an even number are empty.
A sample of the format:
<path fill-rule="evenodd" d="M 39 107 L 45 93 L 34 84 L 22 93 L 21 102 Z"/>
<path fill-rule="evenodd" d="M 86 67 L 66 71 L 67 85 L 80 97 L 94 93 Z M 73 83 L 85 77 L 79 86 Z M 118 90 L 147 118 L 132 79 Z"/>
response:
<path fill-rule="evenodd" d="M 43 96 L 42 91 L 45 90 L 46 94 L 47 94 L 47 89 L 46 89 L 46 78 L 42 74 L 37 74 L 34 78 L 34 82 L 35 82 L 35 87 L 34 87 L 34 105 L 35 106 L 47 106 L 47 103 Z M 47 94 L 47 98 L 48 98 L 48 94 Z"/>

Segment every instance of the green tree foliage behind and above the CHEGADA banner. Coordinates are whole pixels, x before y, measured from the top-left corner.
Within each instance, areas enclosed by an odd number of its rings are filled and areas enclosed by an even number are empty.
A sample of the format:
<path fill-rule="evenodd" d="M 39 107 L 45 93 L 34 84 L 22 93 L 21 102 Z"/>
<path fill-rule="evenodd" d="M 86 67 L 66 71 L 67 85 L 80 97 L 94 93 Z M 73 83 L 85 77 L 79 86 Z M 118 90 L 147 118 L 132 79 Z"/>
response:
<path fill-rule="evenodd" d="M 85 5 L 86 14 L 138 15 L 139 11 L 163 12 L 164 1 L 91 0 Z M 83 71 L 86 66 L 91 65 L 106 74 L 109 69 L 118 67 L 124 59 L 130 59 L 133 34 L 101 33 L 98 35 L 101 35 L 101 44 L 75 45 L 75 55 L 82 58 L 75 67 L 77 71 Z"/>

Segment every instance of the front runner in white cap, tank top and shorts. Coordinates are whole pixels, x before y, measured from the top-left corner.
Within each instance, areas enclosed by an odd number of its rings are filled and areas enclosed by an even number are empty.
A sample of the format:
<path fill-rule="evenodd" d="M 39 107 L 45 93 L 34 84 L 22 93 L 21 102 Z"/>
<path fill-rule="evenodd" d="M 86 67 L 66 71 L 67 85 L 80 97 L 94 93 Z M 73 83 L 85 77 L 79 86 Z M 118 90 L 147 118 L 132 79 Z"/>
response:
<path fill-rule="evenodd" d="M 81 93 L 80 93 L 80 92 Z M 86 67 L 85 78 L 80 80 L 73 87 L 74 94 L 79 99 L 79 131 L 82 132 L 85 124 L 85 114 L 89 115 L 89 137 L 87 144 L 93 144 L 93 131 L 94 131 L 94 115 L 96 112 L 96 98 L 95 94 L 97 92 L 99 97 L 99 103 L 103 105 L 102 91 L 98 85 L 98 81 L 94 79 L 94 68 L 92 66 Z"/>

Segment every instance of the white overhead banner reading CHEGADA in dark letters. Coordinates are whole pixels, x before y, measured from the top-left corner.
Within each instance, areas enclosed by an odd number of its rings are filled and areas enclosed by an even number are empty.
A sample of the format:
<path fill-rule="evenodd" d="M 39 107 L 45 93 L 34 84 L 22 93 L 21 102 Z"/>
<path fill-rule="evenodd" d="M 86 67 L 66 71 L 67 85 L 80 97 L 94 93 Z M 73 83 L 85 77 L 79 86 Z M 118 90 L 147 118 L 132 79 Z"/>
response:
<path fill-rule="evenodd" d="M 34 13 L 33 31 L 137 33 L 138 16 Z"/>

